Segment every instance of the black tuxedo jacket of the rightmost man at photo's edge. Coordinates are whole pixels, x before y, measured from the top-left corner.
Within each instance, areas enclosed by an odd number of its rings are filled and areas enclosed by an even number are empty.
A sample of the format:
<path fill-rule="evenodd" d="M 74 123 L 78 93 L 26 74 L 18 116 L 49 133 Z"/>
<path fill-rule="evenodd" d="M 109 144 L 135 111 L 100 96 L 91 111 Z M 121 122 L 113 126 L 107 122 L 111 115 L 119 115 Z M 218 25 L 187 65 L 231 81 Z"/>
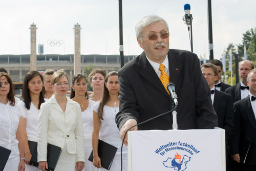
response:
<path fill-rule="evenodd" d="M 247 165 L 256 165 L 256 119 L 252 110 L 250 97 L 234 103 L 234 133 L 230 137 L 230 152 L 231 155 L 241 154 L 241 142 L 244 141 L 245 135 L 252 140 L 250 151 L 247 155 Z"/>

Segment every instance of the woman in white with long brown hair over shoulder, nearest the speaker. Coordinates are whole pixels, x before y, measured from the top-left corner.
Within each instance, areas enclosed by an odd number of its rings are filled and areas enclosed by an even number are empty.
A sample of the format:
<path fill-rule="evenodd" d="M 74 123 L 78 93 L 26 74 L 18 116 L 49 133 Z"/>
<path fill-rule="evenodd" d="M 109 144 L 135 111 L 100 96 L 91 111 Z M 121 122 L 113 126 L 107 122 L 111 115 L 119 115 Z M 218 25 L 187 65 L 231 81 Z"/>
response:
<path fill-rule="evenodd" d="M 110 170 L 119 171 L 121 169 L 121 144 L 120 131 L 117 128 L 115 117 L 119 112 L 119 83 L 118 73 L 112 71 L 106 75 L 104 91 L 101 101 L 93 105 L 93 164 L 101 168 L 101 160 L 98 156 L 98 140 L 105 141 L 115 147 L 117 152 Z M 123 170 L 127 170 L 127 148 L 122 149 Z M 107 170 L 101 168 L 101 170 Z"/>

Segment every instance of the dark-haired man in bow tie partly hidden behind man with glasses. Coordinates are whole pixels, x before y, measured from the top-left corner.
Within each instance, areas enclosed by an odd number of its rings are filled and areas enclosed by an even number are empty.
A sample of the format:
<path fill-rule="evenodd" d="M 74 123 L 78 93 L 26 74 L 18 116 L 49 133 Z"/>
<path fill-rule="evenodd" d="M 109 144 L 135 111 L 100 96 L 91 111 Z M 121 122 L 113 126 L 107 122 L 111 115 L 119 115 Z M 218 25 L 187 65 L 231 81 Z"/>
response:
<path fill-rule="evenodd" d="M 225 90 L 229 87 L 231 87 L 229 84 L 226 84 L 224 82 L 221 82 L 221 75 L 223 73 L 223 65 L 222 62 L 218 59 L 211 59 L 209 63 L 214 64 L 218 69 L 218 78 L 214 83 L 214 86 L 217 90 L 225 92 Z"/>

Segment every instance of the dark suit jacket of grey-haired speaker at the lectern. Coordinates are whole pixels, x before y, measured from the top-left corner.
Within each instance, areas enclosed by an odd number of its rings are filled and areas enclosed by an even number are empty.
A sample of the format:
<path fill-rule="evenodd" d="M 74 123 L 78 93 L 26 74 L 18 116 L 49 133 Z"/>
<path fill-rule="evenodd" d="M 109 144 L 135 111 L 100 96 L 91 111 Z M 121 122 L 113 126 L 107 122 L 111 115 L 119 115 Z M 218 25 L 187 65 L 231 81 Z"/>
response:
<path fill-rule="evenodd" d="M 170 82 L 176 85 L 178 96 L 178 129 L 213 129 L 218 119 L 197 55 L 171 49 L 168 61 Z M 120 111 L 116 115 L 116 123 L 119 129 L 128 119 L 133 118 L 140 123 L 172 109 L 172 100 L 144 52 L 118 72 L 118 81 Z M 172 124 L 172 114 L 169 114 L 138 129 L 169 130 Z"/>

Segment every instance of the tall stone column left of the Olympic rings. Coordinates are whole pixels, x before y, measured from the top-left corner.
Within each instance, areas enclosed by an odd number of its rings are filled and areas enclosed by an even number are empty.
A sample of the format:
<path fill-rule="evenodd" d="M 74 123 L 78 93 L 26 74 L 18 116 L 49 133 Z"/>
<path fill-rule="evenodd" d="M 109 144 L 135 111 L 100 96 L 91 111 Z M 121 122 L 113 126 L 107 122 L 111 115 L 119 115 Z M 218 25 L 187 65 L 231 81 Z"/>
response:
<path fill-rule="evenodd" d="M 30 71 L 37 71 L 36 67 L 36 25 L 30 25 Z"/>

